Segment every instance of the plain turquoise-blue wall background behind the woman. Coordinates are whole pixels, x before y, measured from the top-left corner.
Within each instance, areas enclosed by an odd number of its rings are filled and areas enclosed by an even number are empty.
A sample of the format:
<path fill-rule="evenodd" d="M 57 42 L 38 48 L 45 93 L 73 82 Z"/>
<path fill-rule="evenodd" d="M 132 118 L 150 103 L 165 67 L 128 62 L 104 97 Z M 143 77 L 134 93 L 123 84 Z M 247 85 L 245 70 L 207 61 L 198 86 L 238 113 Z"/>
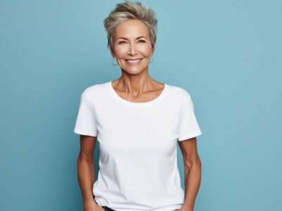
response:
<path fill-rule="evenodd" d="M 82 91 L 121 75 L 102 23 L 118 2 L 0 1 L 0 210 L 82 210 L 73 128 Z M 282 210 L 282 1 L 142 2 L 149 74 L 190 92 L 202 129 L 195 211 Z M 184 188 L 179 148 L 178 166 Z"/>

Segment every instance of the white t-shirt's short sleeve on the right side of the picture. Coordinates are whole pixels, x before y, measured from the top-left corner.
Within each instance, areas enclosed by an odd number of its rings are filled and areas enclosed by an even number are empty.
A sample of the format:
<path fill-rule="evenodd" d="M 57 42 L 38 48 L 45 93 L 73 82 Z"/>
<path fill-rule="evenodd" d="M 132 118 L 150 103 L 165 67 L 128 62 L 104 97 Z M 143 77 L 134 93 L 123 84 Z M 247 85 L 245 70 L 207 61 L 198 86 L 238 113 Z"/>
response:
<path fill-rule="evenodd" d="M 194 105 L 188 91 L 185 91 L 185 95 L 181 104 L 178 126 L 178 141 L 184 141 L 202 134 L 195 117 Z"/>

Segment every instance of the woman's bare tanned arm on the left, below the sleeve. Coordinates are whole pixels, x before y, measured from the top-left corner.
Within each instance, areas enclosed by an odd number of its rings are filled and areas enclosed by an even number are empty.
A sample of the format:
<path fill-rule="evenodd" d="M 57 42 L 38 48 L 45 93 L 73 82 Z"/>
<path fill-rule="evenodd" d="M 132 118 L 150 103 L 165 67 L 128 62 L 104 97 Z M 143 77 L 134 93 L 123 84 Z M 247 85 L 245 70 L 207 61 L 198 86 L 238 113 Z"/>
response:
<path fill-rule="evenodd" d="M 78 183 L 82 193 L 84 211 L 104 211 L 92 193 L 94 184 L 94 149 L 97 137 L 80 135 L 80 153 L 78 155 Z"/>

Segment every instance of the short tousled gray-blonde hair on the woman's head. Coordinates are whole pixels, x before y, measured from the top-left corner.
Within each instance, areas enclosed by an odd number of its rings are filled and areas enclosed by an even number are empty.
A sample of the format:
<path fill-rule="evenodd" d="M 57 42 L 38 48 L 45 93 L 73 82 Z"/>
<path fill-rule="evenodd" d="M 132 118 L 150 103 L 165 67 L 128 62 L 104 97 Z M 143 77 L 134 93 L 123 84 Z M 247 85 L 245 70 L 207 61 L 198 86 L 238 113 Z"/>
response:
<path fill-rule="evenodd" d="M 158 20 L 155 17 L 156 12 L 151 8 L 147 8 L 140 2 L 131 2 L 125 0 L 123 3 L 116 4 L 116 8 L 104 19 L 104 28 L 108 38 L 108 48 L 114 49 L 113 35 L 115 29 L 119 23 L 123 23 L 126 20 L 141 20 L 145 23 L 149 29 L 149 36 L 152 43 L 152 47 L 155 47 L 157 41 L 157 23 Z"/>

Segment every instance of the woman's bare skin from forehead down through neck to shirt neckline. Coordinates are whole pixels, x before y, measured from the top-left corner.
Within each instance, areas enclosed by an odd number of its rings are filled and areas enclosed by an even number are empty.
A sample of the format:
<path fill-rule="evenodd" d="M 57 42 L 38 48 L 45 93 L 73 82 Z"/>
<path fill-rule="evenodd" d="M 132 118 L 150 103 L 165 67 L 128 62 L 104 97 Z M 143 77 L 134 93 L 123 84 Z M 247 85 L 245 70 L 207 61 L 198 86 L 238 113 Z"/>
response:
<path fill-rule="evenodd" d="M 123 39 L 121 39 L 123 37 Z M 139 38 L 138 37 L 142 37 Z M 116 93 L 126 101 L 147 102 L 157 98 L 164 84 L 148 75 L 150 57 L 154 48 L 149 39 L 147 25 L 140 20 L 120 23 L 114 33 L 114 49 L 111 55 L 121 67 L 121 77 L 112 82 Z M 137 65 L 128 65 L 125 59 L 142 58 Z"/>

